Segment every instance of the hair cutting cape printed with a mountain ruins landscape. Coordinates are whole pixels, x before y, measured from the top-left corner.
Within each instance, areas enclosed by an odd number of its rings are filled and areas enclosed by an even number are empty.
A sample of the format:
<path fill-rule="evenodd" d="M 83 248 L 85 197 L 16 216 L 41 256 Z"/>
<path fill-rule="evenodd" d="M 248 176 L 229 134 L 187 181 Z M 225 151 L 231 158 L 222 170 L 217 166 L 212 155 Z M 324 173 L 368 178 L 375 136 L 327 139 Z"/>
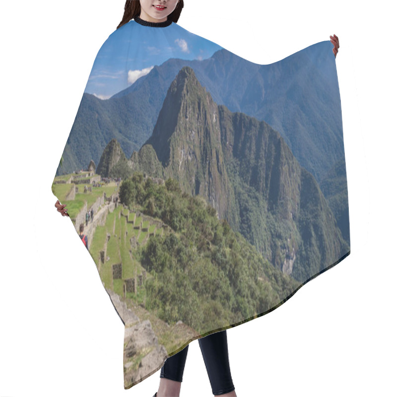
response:
<path fill-rule="evenodd" d="M 259 65 L 139 18 L 100 48 L 52 191 L 125 325 L 126 389 L 350 254 L 332 48 Z"/>

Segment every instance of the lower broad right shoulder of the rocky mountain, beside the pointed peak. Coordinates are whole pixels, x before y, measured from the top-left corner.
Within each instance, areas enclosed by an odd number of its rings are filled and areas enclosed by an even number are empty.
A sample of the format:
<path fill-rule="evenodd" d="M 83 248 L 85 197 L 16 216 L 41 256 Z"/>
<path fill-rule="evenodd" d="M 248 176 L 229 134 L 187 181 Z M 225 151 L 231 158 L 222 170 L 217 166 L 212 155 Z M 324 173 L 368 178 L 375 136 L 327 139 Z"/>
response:
<path fill-rule="evenodd" d="M 265 122 L 224 106 L 219 107 L 219 120 L 240 210 L 233 217 L 228 209 L 231 225 L 273 265 L 301 281 L 347 253 L 318 183 L 281 135 Z"/>

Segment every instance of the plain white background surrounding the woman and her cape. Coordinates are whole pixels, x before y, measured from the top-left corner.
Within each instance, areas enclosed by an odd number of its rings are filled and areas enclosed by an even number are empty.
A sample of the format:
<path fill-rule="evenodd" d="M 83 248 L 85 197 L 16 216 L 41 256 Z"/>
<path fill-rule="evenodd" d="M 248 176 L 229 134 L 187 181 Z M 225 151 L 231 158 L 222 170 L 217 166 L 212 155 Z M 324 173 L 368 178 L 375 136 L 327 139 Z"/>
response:
<path fill-rule="evenodd" d="M 1 3 L 0 396 L 136 396 L 124 326 L 51 184 L 93 61 L 124 0 Z M 186 0 L 178 23 L 269 64 L 335 33 L 351 254 L 227 331 L 245 396 L 395 396 L 395 45 L 388 1 Z M 394 43 L 393 43 L 394 44 Z M 76 277 L 76 274 L 79 277 Z M 212 396 L 197 340 L 181 397 Z"/>

